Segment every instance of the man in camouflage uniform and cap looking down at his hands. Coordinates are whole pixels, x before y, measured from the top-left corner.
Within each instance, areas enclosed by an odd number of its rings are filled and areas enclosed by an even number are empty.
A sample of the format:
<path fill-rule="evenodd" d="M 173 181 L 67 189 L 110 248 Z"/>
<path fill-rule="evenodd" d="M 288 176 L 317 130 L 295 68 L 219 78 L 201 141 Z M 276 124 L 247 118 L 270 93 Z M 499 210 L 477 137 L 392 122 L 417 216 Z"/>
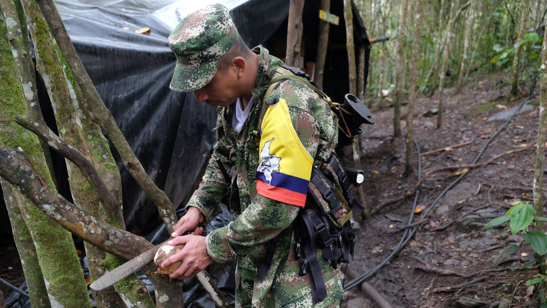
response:
<path fill-rule="evenodd" d="M 194 91 L 198 102 L 217 107 L 218 120 L 205 176 L 172 234 L 171 244 L 185 247 L 162 266 L 182 261 L 171 277 L 186 278 L 213 261 L 237 259 L 236 306 L 312 306 L 310 274 L 298 275 L 293 221 L 304 206 L 312 165 L 323 164 L 336 146 L 336 116 L 316 92 L 293 80 L 265 97 L 283 62 L 261 46 L 249 49 L 223 5 L 190 14 L 168 40 L 177 56 L 170 88 Z M 202 229 L 197 225 L 221 212 L 218 204 L 228 193 L 217 159 L 233 170 L 229 208 L 235 218 L 198 236 Z M 193 233 L 180 236 L 186 231 Z M 265 278 L 258 281 L 272 239 L 279 242 Z M 328 295 L 316 307 L 339 305 L 338 270 L 321 249 L 317 258 Z"/>

